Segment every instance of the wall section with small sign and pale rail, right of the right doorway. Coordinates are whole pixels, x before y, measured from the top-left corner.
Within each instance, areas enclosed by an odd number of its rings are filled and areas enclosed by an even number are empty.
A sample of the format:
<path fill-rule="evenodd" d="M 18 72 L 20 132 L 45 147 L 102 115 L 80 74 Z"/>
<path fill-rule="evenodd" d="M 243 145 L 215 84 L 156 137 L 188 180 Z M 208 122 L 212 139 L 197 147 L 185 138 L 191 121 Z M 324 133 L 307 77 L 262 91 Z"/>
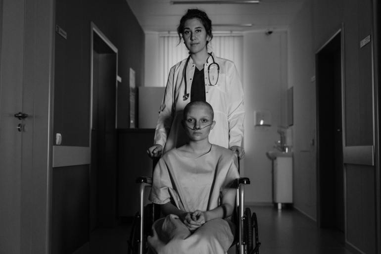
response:
<path fill-rule="evenodd" d="M 358 18 L 344 23 L 345 87 L 343 103 L 343 163 L 345 195 L 345 242 L 354 253 L 377 250 L 377 141 L 374 93 L 372 0 L 349 1 L 348 11 Z M 346 14 L 346 13 L 345 13 Z M 347 15 L 345 15 L 347 16 Z M 349 16 L 348 16 L 349 17 Z M 351 71 L 349 71 L 351 70 Z M 376 159 L 375 159 L 376 158 Z"/>

